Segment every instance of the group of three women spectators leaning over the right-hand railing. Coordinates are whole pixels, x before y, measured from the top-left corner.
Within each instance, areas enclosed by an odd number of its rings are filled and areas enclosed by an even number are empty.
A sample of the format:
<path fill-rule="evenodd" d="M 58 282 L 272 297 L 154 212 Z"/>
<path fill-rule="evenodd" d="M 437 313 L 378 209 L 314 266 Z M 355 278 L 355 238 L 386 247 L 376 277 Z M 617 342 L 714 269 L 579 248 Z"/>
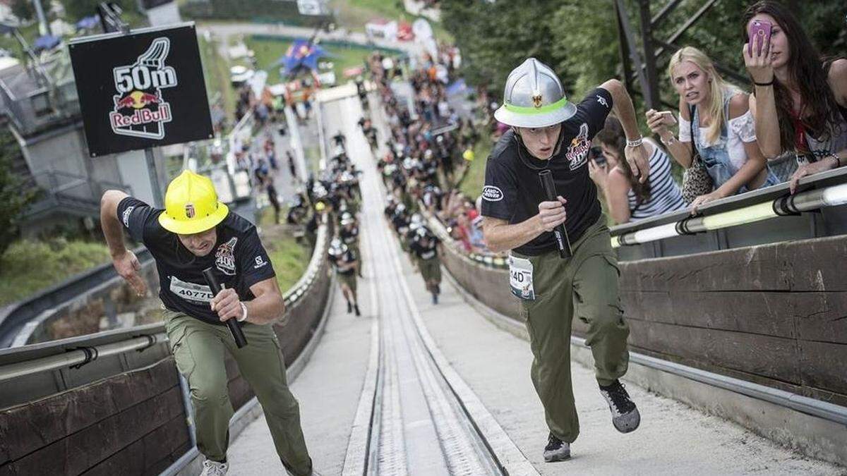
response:
<path fill-rule="evenodd" d="M 781 3 L 750 6 L 742 30 L 750 93 L 723 80 L 699 49 L 673 54 L 667 75 L 679 110 L 645 113 L 662 142 L 649 142 L 646 183 L 623 160 L 620 128 L 598 134 L 601 157 L 590 161 L 590 176 L 616 223 L 682 208 L 697 213 L 708 202 L 786 181 L 794 193 L 801 178 L 847 164 L 847 59 L 822 58 Z M 686 170 L 681 190 L 669 180 L 668 158 Z M 696 169 L 705 169 L 705 185 L 695 183 Z"/>

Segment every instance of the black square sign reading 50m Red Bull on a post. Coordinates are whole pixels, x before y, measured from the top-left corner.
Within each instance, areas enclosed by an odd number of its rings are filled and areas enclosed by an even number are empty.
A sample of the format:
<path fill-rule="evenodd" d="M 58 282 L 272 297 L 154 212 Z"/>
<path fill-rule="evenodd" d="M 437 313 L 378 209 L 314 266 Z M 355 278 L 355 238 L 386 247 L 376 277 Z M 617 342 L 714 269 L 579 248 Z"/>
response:
<path fill-rule="evenodd" d="M 193 23 L 70 42 L 91 157 L 213 136 Z"/>

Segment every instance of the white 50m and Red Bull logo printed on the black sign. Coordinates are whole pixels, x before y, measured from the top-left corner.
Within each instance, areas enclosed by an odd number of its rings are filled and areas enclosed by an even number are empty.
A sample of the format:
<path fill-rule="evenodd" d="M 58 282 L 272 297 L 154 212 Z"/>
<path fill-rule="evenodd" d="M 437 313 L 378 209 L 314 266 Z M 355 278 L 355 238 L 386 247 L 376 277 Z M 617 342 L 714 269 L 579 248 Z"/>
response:
<path fill-rule="evenodd" d="M 163 139 L 164 124 L 170 122 L 169 102 L 162 97 L 162 89 L 176 86 L 174 68 L 164 64 L 168 58 L 170 41 L 156 38 L 135 64 L 113 69 L 114 110 L 109 112 L 109 123 L 115 134 Z"/>

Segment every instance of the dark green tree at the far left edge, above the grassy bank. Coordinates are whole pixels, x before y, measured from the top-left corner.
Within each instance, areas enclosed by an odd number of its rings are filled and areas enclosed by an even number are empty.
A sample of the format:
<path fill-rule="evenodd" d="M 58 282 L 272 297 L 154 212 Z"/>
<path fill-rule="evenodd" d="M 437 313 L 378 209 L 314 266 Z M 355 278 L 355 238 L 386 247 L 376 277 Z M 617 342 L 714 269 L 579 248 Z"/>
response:
<path fill-rule="evenodd" d="M 18 142 L 8 130 L 0 129 L 0 257 L 18 235 L 20 214 L 36 197 L 27 189 L 19 175 L 12 169 L 14 158 L 19 157 Z"/>

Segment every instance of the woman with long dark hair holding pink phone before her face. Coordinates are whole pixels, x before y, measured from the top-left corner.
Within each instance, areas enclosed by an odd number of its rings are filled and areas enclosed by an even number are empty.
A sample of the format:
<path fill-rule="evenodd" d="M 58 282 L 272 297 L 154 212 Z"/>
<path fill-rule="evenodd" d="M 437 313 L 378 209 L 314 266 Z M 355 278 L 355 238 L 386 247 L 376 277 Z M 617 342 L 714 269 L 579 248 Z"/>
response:
<path fill-rule="evenodd" d="M 847 164 L 847 59 L 822 61 L 794 15 L 776 2 L 747 9 L 745 38 L 756 136 L 767 158 L 794 152 L 794 193 L 801 177 Z"/>

